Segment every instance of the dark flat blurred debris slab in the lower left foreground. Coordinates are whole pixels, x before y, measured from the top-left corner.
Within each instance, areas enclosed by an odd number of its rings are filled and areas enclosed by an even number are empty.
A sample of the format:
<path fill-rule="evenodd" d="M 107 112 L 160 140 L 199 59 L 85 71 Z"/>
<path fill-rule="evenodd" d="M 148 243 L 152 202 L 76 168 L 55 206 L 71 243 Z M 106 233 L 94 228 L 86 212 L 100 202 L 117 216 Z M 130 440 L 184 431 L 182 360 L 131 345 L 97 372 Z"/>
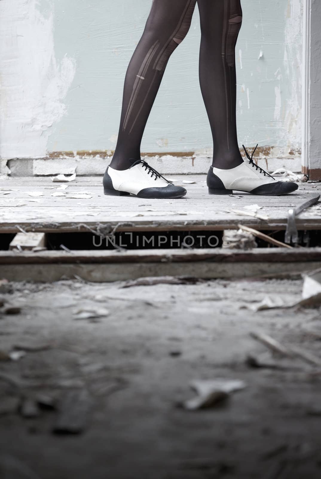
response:
<path fill-rule="evenodd" d="M 86 389 L 68 391 L 58 404 L 55 434 L 79 434 L 88 424 L 91 399 Z"/>

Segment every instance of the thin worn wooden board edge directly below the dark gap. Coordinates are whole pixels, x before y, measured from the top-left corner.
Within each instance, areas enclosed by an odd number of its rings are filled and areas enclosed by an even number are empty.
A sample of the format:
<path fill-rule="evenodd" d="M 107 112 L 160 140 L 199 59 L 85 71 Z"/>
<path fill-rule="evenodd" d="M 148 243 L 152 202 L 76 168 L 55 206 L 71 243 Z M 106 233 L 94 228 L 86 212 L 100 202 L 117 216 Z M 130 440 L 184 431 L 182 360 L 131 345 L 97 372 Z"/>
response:
<path fill-rule="evenodd" d="M 14 264 L 128 264 L 128 263 L 291 263 L 318 262 L 321 267 L 321 248 L 257 248 L 250 251 L 222 250 L 221 248 L 204 248 L 195 250 L 89 250 L 89 251 L 0 251 L 1 265 Z"/>

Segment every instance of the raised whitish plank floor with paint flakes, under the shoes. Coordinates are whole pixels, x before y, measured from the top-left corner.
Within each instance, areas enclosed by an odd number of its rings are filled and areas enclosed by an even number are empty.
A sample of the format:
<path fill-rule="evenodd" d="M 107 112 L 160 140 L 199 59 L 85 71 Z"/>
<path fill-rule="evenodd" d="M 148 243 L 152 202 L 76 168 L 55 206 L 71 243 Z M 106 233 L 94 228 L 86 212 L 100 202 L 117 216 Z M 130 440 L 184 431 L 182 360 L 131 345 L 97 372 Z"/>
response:
<path fill-rule="evenodd" d="M 53 182 L 50 177 L 7 178 L 0 181 L 1 232 L 88 231 L 108 226 L 117 231 L 220 230 L 239 223 L 264 229 L 285 229 L 288 209 L 321 192 L 321 183 L 299 183 L 286 196 L 208 194 L 205 175 L 175 176 L 186 187 L 184 198 L 150 200 L 135 196 L 104 196 L 101 177 L 78 177 L 72 182 Z M 183 181 L 195 181 L 186 184 Z M 60 189 L 66 185 L 66 189 Z M 36 196 L 34 194 L 40 194 Z M 247 216 L 246 206 L 259 205 L 259 217 Z M 238 210 L 239 212 L 234 212 Z M 242 215 L 243 212 L 244 215 Z M 321 204 L 302 213 L 299 229 L 321 229 Z"/>

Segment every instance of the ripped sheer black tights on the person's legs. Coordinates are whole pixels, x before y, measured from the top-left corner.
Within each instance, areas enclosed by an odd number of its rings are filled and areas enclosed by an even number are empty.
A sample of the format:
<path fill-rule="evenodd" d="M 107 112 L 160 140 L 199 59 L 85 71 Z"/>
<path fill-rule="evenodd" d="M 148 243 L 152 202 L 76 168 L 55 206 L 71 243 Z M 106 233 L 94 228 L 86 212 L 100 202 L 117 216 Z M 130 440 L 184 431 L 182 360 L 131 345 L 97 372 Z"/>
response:
<path fill-rule="evenodd" d="M 144 33 L 127 68 L 122 115 L 111 167 L 139 160 L 148 116 L 173 51 L 188 33 L 196 1 L 201 41 L 199 83 L 213 136 L 213 165 L 242 163 L 236 132 L 235 44 L 242 23 L 240 0 L 153 0 Z"/>

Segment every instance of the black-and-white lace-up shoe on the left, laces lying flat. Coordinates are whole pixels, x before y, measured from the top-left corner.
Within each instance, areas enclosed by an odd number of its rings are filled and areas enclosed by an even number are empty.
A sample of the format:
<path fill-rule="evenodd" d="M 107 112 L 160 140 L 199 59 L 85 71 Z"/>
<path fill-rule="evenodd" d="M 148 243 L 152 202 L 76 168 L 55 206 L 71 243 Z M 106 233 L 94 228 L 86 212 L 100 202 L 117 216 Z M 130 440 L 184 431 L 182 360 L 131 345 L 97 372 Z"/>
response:
<path fill-rule="evenodd" d="M 187 193 L 182 186 L 175 186 L 166 180 L 146 161 L 133 160 L 127 170 L 114 170 L 110 166 L 105 171 L 102 183 L 104 194 L 122 196 L 134 194 L 139 198 L 181 198 Z"/>

